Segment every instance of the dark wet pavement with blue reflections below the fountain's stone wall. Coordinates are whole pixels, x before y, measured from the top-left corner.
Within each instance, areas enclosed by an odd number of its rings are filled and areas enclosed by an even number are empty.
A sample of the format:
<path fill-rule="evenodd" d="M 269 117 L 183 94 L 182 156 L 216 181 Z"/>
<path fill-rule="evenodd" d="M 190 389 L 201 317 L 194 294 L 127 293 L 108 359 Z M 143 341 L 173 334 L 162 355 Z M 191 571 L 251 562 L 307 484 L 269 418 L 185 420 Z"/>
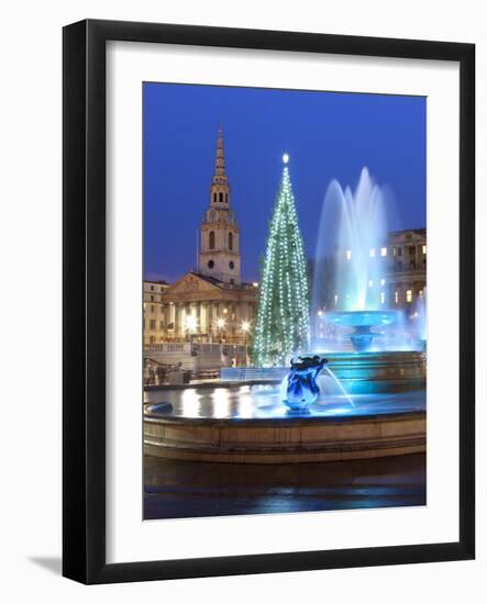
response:
<path fill-rule="evenodd" d="M 237 465 L 145 456 L 144 518 L 425 505 L 425 455 Z"/>

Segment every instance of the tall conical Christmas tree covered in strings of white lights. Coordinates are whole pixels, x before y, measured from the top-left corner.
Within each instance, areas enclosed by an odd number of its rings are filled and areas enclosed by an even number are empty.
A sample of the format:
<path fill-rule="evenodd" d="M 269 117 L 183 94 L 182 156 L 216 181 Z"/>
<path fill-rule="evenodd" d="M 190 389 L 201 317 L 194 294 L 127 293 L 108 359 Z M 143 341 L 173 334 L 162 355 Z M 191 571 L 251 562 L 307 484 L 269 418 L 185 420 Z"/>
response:
<path fill-rule="evenodd" d="M 291 181 L 284 155 L 265 257 L 262 264 L 253 361 L 285 365 L 309 345 L 308 277 Z"/>

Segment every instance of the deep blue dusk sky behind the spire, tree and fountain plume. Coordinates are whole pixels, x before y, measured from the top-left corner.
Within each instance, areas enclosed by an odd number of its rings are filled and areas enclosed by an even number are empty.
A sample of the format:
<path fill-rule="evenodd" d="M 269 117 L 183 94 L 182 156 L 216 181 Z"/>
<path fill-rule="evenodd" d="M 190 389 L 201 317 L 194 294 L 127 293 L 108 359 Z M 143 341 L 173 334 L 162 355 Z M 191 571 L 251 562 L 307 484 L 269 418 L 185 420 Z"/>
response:
<path fill-rule="evenodd" d="M 241 228 L 243 280 L 258 280 L 285 152 L 309 257 L 329 182 L 336 178 L 355 189 L 363 166 L 391 189 L 395 227 L 425 226 L 422 97 L 170 83 L 144 83 L 143 97 L 146 279 L 173 282 L 196 266 L 219 123 Z"/>

